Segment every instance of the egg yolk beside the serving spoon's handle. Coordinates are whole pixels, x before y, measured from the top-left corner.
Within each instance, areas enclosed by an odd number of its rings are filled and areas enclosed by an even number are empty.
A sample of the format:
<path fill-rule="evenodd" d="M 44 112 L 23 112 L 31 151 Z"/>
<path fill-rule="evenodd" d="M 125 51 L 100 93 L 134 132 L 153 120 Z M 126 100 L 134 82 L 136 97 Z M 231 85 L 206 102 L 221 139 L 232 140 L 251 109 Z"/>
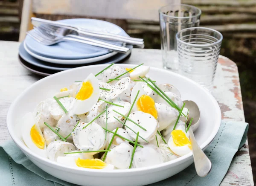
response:
<path fill-rule="evenodd" d="M 186 137 L 186 134 L 181 130 L 173 130 L 172 133 L 172 139 L 176 146 L 184 146 L 188 145 L 190 149 L 191 148 L 191 142 L 189 141 L 189 138 Z"/>

